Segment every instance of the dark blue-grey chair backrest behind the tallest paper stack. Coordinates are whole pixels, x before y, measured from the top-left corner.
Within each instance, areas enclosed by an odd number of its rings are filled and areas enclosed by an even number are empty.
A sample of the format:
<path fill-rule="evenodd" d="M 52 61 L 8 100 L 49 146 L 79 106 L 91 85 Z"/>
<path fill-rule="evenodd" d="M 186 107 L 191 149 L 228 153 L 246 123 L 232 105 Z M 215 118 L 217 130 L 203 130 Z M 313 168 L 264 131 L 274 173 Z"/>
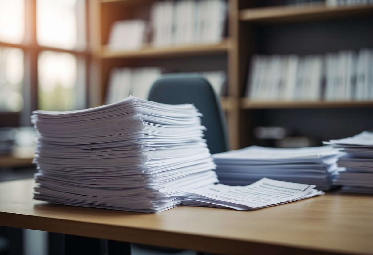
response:
<path fill-rule="evenodd" d="M 225 119 L 210 83 L 199 75 L 164 75 L 154 82 L 148 100 L 166 104 L 192 103 L 203 114 L 211 154 L 228 151 Z"/>

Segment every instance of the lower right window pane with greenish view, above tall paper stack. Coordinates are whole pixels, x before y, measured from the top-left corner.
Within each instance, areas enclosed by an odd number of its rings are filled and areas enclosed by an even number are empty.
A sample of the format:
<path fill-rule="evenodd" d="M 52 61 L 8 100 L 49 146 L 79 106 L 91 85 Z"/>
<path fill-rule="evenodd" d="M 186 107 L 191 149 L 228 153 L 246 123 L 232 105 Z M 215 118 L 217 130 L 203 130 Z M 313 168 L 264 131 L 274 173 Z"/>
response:
<path fill-rule="evenodd" d="M 70 53 L 44 51 L 38 58 L 38 108 L 76 109 L 76 57 Z"/>

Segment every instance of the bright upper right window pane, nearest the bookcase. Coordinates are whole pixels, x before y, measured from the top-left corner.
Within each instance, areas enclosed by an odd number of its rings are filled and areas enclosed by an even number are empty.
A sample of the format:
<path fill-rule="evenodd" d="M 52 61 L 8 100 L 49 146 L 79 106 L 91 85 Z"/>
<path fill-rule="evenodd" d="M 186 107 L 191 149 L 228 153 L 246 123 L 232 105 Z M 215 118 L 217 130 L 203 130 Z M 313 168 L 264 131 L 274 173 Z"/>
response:
<path fill-rule="evenodd" d="M 37 0 L 37 41 L 63 49 L 76 47 L 76 0 Z"/>

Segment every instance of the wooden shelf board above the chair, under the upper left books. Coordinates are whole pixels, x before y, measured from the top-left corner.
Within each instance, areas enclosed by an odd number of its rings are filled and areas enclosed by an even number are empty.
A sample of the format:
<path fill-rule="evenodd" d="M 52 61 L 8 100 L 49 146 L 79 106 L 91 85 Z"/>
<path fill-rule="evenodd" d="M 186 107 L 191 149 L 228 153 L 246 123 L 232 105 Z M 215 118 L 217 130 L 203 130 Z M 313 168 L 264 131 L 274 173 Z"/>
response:
<path fill-rule="evenodd" d="M 138 51 L 113 51 L 109 46 L 104 45 L 95 53 L 101 58 L 169 58 L 185 57 L 198 55 L 226 54 L 229 49 L 228 40 L 220 43 L 188 45 L 188 46 L 170 46 L 153 47 L 145 46 Z"/>

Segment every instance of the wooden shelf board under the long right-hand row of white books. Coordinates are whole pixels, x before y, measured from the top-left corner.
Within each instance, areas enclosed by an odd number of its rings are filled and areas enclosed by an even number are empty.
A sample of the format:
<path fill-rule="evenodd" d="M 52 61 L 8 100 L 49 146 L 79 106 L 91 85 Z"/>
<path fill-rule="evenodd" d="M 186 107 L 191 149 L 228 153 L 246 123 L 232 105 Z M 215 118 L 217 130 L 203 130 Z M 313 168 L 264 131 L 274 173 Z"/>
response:
<path fill-rule="evenodd" d="M 373 101 L 253 101 L 241 99 L 241 109 L 297 109 L 373 107 Z"/>

